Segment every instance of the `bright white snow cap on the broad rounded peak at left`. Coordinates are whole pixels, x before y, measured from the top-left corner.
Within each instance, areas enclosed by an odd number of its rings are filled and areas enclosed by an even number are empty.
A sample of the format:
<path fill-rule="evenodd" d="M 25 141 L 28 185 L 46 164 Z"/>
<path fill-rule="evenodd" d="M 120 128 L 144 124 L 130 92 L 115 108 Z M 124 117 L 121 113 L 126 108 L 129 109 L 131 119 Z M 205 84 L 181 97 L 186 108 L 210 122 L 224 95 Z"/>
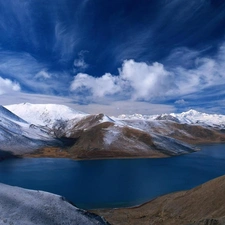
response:
<path fill-rule="evenodd" d="M 65 105 L 21 103 L 5 106 L 31 124 L 52 127 L 56 121 L 82 118 L 87 114 Z"/>

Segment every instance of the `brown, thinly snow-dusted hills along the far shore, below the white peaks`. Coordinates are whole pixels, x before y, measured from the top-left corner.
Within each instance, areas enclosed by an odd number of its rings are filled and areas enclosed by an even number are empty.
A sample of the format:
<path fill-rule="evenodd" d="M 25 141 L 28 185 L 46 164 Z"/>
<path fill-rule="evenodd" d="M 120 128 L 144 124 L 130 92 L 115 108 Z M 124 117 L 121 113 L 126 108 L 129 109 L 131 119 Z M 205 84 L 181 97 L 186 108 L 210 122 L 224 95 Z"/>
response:
<path fill-rule="evenodd" d="M 42 148 L 31 157 L 73 159 L 150 157 L 160 158 L 196 151 L 190 144 L 224 142 L 216 128 L 168 120 L 114 121 L 104 114 L 58 121 L 51 131 L 62 145 Z"/>

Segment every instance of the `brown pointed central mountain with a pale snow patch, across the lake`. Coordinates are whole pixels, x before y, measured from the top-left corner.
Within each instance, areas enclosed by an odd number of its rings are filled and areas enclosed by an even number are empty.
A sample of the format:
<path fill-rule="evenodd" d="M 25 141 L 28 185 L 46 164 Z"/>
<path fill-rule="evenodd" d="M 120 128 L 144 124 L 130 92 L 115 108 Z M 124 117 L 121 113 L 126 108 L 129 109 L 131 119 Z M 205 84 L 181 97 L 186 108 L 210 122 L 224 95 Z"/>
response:
<path fill-rule="evenodd" d="M 57 138 L 74 140 L 67 148 L 69 158 L 167 157 L 195 151 L 172 137 L 130 126 L 104 114 L 60 121 L 52 129 Z M 49 156 L 49 149 L 38 152 L 40 155 Z"/>

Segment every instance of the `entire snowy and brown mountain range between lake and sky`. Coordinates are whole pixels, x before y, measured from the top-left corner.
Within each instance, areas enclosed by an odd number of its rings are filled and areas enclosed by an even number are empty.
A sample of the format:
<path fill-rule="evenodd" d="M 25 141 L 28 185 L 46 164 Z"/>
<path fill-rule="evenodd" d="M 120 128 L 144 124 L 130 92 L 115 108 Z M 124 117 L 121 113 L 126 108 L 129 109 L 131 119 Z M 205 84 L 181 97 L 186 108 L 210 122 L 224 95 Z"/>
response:
<path fill-rule="evenodd" d="M 189 110 L 162 115 L 86 114 L 64 105 L 0 107 L 0 155 L 168 157 L 225 141 L 225 116 Z"/>

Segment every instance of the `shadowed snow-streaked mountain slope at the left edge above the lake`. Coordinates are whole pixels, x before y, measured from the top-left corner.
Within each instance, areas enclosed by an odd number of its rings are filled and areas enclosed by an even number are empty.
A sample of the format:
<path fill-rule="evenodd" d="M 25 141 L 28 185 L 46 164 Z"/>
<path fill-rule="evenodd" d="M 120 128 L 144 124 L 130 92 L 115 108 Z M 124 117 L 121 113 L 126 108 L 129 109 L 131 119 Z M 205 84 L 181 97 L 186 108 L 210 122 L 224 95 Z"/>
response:
<path fill-rule="evenodd" d="M 0 158 L 4 151 L 22 154 L 47 144 L 54 145 L 56 140 L 49 132 L 47 129 L 31 126 L 27 121 L 0 106 Z"/>

